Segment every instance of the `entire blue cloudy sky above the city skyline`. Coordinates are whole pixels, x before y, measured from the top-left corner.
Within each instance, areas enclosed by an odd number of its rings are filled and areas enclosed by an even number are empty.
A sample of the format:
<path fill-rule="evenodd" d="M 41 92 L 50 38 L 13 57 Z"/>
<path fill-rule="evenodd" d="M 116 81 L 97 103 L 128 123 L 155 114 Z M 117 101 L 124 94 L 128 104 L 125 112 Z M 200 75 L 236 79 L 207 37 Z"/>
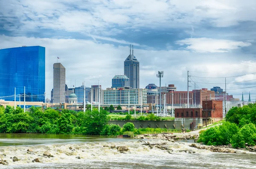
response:
<path fill-rule="evenodd" d="M 57 57 L 69 87 L 105 89 L 133 44 L 141 88 L 159 86 L 160 70 L 185 91 L 191 71 L 190 90 L 224 88 L 224 78 L 201 77 L 228 77 L 229 94 L 255 100 L 255 16 L 255 0 L 0 0 L 0 49 L 46 47 L 48 97 Z"/>

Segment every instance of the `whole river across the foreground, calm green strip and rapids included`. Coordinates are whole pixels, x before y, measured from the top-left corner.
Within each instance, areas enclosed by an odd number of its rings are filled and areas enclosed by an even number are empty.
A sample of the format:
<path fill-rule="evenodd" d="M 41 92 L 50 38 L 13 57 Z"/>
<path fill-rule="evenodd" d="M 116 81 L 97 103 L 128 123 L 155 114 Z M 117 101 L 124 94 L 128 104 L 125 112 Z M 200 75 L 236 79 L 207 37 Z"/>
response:
<path fill-rule="evenodd" d="M 84 135 L 0 134 L 0 169 L 255 169 L 256 154 L 214 153 L 189 147 L 189 142 L 150 140 L 166 143 L 173 151 L 150 149 L 140 140 Z M 103 145 L 128 146 L 129 151 Z M 70 150 L 69 148 L 72 147 Z M 27 149 L 33 153 L 28 154 Z M 180 150 L 193 150 L 189 154 Z M 44 157 L 48 151 L 52 158 Z M 19 161 L 13 162 L 16 156 Z M 80 159 L 78 159 L 80 157 Z M 40 163 L 33 163 L 38 158 Z"/>

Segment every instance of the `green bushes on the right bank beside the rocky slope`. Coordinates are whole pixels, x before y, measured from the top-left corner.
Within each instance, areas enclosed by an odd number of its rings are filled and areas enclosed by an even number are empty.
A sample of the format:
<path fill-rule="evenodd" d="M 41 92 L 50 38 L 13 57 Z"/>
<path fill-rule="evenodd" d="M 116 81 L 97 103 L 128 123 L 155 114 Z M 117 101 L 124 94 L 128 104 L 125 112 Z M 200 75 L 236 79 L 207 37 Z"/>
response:
<path fill-rule="evenodd" d="M 228 145 L 244 148 L 256 145 L 256 104 L 233 107 L 221 126 L 207 129 L 200 134 L 198 142 L 207 145 Z"/>

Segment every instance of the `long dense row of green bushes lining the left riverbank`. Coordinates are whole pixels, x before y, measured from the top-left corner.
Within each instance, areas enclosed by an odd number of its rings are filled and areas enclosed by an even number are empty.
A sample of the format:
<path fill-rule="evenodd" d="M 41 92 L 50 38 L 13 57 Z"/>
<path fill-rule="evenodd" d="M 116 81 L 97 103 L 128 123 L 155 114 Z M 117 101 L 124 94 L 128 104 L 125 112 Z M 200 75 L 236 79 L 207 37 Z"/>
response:
<path fill-rule="evenodd" d="M 0 106 L 1 133 L 53 133 L 53 134 L 88 134 L 99 135 L 109 120 L 108 112 L 98 109 L 75 112 L 54 109 L 42 111 L 39 107 L 31 107 L 29 112 L 23 109 Z M 111 133 L 116 134 L 119 128 L 112 126 Z M 120 130 L 120 129 L 119 129 Z"/>

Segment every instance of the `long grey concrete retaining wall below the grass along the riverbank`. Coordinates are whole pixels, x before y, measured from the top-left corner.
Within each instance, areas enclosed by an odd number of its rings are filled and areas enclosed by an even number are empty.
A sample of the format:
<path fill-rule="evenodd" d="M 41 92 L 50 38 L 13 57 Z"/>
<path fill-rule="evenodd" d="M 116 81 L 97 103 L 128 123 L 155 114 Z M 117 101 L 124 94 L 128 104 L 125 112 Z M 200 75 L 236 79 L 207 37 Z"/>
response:
<path fill-rule="evenodd" d="M 163 121 L 121 121 L 111 120 L 108 124 L 116 124 L 122 127 L 125 123 L 134 123 L 135 128 L 165 128 L 165 129 L 177 129 L 181 130 L 181 121 L 163 120 Z"/>

